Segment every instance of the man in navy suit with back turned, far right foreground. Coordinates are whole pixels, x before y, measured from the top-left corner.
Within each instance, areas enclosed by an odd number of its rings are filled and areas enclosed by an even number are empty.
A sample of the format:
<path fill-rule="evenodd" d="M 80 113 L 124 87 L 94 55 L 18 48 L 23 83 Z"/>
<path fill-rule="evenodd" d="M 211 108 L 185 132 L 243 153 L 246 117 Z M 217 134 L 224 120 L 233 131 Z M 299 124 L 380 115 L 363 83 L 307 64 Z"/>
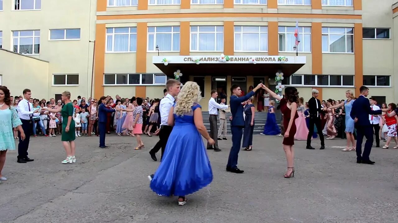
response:
<path fill-rule="evenodd" d="M 350 116 L 354 119 L 355 129 L 357 129 L 357 163 L 375 164 L 369 159 L 373 145 L 373 127 L 369 121 L 369 115 L 381 115 L 381 110 L 371 110 L 369 99 L 369 88 L 362 86 L 359 88 L 360 95 L 352 104 Z M 362 154 L 363 136 L 366 137 L 365 147 Z M 361 156 L 362 155 L 362 156 Z"/>

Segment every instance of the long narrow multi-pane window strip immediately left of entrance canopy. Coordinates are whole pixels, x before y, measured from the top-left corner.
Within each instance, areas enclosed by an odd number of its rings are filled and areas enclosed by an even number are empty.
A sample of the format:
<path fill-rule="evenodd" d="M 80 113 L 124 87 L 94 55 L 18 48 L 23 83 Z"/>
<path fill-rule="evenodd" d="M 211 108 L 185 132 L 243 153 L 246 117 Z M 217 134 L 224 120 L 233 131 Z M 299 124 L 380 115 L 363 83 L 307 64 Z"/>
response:
<path fill-rule="evenodd" d="M 165 85 L 167 77 L 158 73 L 104 74 L 104 85 Z"/>

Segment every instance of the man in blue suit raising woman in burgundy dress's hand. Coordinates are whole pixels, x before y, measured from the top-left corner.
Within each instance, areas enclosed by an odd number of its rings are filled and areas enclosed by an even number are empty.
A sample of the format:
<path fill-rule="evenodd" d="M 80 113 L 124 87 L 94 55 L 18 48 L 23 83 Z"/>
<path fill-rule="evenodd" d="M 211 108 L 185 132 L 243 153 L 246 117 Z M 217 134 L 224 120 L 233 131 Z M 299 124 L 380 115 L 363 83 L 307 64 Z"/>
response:
<path fill-rule="evenodd" d="M 238 95 L 242 93 L 242 90 L 238 85 L 232 85 L 231 97 L 230 97 L 230 109 L 232 113 L 231 120 L 231 132 L 232 132 L 232 147 L 229 152 L 228 163 L 226 164 L 226 171 L 232 173 L 243 173 L 243 170 L 238 169 L 238 153 L 242 141 L 242 130 L 245 127 L 245 120 L 243 119 L 243 106 L 242 102 L 248 100 L 254 93 L 263 87 L 263 84 L 257 85 L 252 91 L 248 92 L 243 97 L 238 98 Z"/>

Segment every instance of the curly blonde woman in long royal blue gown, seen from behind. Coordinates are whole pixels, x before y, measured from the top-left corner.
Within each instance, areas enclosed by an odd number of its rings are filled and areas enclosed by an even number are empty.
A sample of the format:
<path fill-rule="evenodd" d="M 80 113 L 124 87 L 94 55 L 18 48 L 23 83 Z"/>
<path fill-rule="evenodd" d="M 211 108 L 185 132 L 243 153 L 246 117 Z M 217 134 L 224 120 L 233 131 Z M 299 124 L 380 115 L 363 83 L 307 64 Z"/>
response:
<path fill-rule="evenodd" d="M 203 125 L 201 91 L 196 82 L 187 81 L 179 92 L 176 104 L 170 109 L 168 124 L 173 130 L 165 152 L 150 183 L 158 195 L 178 196 L 178 205 L 186 203 L 185 196 L 213 181 L 213 172 L 202 136 L 210 138 Z"/>

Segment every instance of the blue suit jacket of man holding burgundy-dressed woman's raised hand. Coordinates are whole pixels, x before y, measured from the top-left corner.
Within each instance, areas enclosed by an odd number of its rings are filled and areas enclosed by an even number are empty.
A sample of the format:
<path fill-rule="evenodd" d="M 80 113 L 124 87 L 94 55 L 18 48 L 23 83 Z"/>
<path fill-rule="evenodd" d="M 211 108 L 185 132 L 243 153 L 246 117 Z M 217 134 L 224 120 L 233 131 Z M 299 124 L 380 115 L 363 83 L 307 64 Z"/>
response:
<path fill-rule="evenodd" d="M 229 105 L 232 113 L 231 126 L 240 126 L 240 127 L 245 126 L 245 120 L 243 119 L 243 106 L 241 103 L 248 100 L 253 95 L 254 91 L 250 91 L 248 94 L 240 98 L 238 98 L 235 95 L 230 96 Z"/>

